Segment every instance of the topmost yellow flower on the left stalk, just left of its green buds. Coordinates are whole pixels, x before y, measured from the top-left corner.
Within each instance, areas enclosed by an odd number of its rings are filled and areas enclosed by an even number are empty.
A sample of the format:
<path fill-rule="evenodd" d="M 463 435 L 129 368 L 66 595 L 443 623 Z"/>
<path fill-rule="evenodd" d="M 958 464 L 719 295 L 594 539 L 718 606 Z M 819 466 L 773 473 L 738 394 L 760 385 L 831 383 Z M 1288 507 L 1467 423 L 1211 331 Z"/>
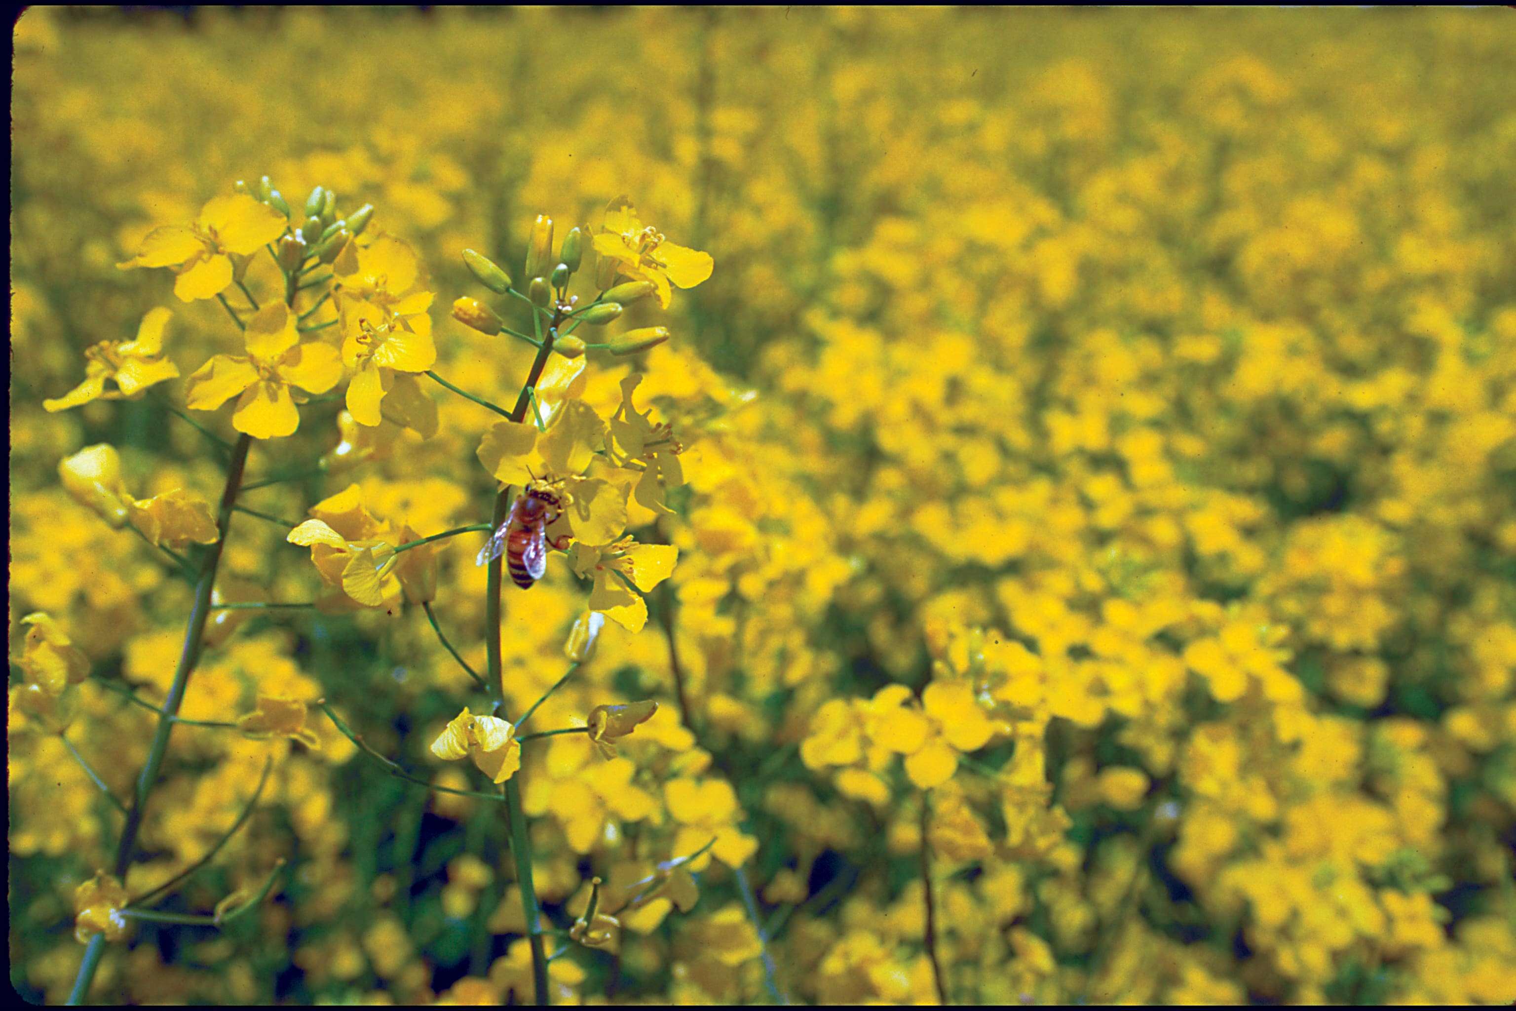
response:
<path fill-rule="evenodd" d="M 232 256 L 250 256 L 283 235 L 288 221 L 265 203 L 246 192 L 212 197 L 194 224 L 170 224 L 143 238 L 136 256 L 117 264 L 133 267 L 174 267 L 174 294 L 183 302 L 214 299 L 226 291 L 235 276 Z"/>

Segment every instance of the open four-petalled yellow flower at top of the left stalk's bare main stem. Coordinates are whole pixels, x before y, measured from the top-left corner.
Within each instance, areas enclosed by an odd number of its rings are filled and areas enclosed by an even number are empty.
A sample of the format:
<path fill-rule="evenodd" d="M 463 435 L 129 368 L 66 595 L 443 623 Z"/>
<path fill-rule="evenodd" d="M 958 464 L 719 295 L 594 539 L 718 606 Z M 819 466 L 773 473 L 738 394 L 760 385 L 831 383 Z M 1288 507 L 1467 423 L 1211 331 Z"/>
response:
<path fill-rule="evenodd" d="M 290 388 L 326 393 L 343 377 L 341 356 L 330 344 L 300 344 L 294 314 L 282 302 L 253 314 L 244 336 L 246 356 L 215 355 L 190 376 L 188 406 L 215 411 L 241 394 L 232 427 L 253 438 L 294 435 L 300 412 Z"/>

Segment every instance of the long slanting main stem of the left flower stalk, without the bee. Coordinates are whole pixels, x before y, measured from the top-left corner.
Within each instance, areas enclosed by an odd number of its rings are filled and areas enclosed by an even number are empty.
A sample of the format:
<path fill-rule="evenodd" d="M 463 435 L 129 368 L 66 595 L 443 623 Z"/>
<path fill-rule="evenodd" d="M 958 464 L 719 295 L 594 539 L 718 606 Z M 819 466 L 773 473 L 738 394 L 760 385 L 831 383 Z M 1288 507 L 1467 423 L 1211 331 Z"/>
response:
<path fill-rule="evenodd" d="M 158 773 L 164 765 L 164 758 L 168 755 L 168 738 L 173 734 L 179 706 L 183 705 L 185 691 L 190 688 L 190 675 L 194 673 L 196 664 L 200 662 L 205 623 L 211 617 L 211 590 L 215 587 L 215 576 L 221 565 L 221 550 L 226 547 L 226 535 L 232 529 L 232 506 L 236 505 L 236 493 L 243 484 L 243 471 L 247 468 L 247 450 L 252 449 L 252 437 L 244 434 L 236 440 L 236 446 L 232 447 L 232 461 L 227 467 L 226 487 L 221 491 L 221 506 L 217 512 L 217 538 L 205 552 L 205 558 L 200 562 L 200 581 L 196 584 L 194 606 L 190 611 L 190 623 L 185 628 L 179 665 L 174 668 L 168 697 L 164 700 L 164 708 L 159 712 L 158 729 L 153 732 L 153 741 L 147 750 L 147 764 L 143 765 L 143 773 L 136 779 L 132 808 L 126 814 L 126 825 L 121 829 L 121 840 L 115 850 L 114 873 L 118 879 L 126 878 L 126 869 L 132 865 L 132 858 L 136 855 L 136 837 L 143 829 L 147 799 L 158 784 Z M 76 997 L 82 1000 L 89 993 L 89 984 L 94 981 L 96 969 L 100 964 L 100 953 L 92 952 L 92 949 L 94 943 L 91 941 L 91 947 L 85 950 L 83 964 L 79 967 L 79 976 L 74 979 L 74 991 L 70 1000 Z M 94 953 L 92 958 L 91 953 Z"/>

